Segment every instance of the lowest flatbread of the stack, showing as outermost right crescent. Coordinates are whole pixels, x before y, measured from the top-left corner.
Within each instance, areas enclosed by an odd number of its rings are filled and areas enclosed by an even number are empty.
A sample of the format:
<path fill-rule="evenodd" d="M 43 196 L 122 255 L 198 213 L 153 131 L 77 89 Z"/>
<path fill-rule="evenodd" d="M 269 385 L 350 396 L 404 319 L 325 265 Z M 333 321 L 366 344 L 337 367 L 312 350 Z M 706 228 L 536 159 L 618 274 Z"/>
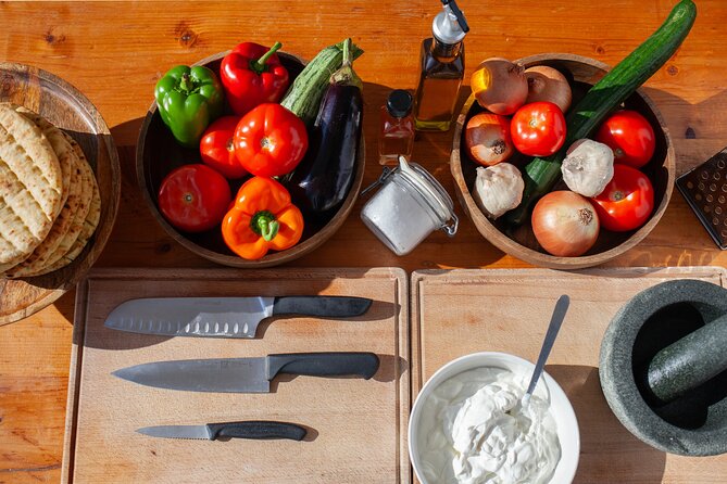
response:
<path fill-rule="evenodd" d="M 61 245 L 57 249 L 53 256 L 49 258 L 48 266 L 39 270 L 35 276 L 52 272 L 53 270 L 61 269 L 74 262 L 86 247 L 86 244 L 91 235 L 93 235 L 101 219 L 101 193 L 99 192 L 99 186 L 96 181 L 93 170 L 86 162 L 84 152 L 78 143 L 76 143 L 70 136 L 66 135 L 66 137 L 74 149 L 79 152 L 79 155 L 83 157 L 82 165 L 85 166 L 84 173 L 91 184 L 91 199 L 88 204 L 88 212 L 83 217 L 79 217 L 82 214 L 80 212 L 76 215 L 76 219 L 74 220 L 71 230 L 63 239 L 63 242 L 61 242 Z"/>

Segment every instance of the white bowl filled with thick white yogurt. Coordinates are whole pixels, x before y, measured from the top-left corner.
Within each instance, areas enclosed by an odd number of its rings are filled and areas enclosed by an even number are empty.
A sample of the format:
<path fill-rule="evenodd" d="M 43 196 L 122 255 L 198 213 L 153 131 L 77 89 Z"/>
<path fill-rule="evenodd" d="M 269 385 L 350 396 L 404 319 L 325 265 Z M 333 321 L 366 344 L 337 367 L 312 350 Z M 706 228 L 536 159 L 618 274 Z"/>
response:
<path fill-rule="evenodd" d="M 521 406 L 532 367 L 513 355 L 476 353 L 431 377 L 409 423 L 409 453 L 423 484 L 572 482 L 580 450 L 576 416 L 547 373 Z"/>

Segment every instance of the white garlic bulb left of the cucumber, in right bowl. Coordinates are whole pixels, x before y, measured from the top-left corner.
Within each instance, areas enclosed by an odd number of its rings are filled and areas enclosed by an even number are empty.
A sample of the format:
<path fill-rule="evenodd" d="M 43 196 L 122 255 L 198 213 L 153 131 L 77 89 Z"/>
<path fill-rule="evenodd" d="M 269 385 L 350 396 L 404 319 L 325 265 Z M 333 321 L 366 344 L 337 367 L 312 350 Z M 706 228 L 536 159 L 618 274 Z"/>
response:
<path fill-rule="evenodd" d="M 524 189 L 523 177 L 514 165 L 479 166 L 473 198 L 485 215 L 494 219 L 521 204 Z"/>

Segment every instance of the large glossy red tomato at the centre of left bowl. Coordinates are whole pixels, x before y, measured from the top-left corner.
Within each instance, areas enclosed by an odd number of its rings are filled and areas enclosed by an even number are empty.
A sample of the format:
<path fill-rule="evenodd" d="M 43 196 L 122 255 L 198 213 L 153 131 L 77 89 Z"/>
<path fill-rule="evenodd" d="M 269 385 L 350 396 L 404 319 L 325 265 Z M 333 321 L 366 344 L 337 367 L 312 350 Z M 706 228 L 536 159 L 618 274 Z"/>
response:
<path fill-rule="evenodd" d="M 242 116 L 234 143 L 245 169 L 259 177 L 277 177 L 298 166 L 308 150 L 308 132 L 290 111 L 265 103 Z"/>

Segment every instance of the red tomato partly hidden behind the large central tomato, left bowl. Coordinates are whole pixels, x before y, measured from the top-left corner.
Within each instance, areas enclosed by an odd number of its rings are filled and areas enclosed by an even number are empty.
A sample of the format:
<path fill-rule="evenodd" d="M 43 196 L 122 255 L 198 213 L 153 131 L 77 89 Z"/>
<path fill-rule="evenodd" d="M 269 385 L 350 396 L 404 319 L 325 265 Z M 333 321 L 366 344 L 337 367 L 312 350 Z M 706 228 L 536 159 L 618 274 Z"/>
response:
<path fill-rule="evenodd" d="M 223 116 L 212 123 L 200 140 L 202 161 L 225 178 L 241 178 L 247 171 L 235 156 L 233 137 L 239 116 Z"/>

